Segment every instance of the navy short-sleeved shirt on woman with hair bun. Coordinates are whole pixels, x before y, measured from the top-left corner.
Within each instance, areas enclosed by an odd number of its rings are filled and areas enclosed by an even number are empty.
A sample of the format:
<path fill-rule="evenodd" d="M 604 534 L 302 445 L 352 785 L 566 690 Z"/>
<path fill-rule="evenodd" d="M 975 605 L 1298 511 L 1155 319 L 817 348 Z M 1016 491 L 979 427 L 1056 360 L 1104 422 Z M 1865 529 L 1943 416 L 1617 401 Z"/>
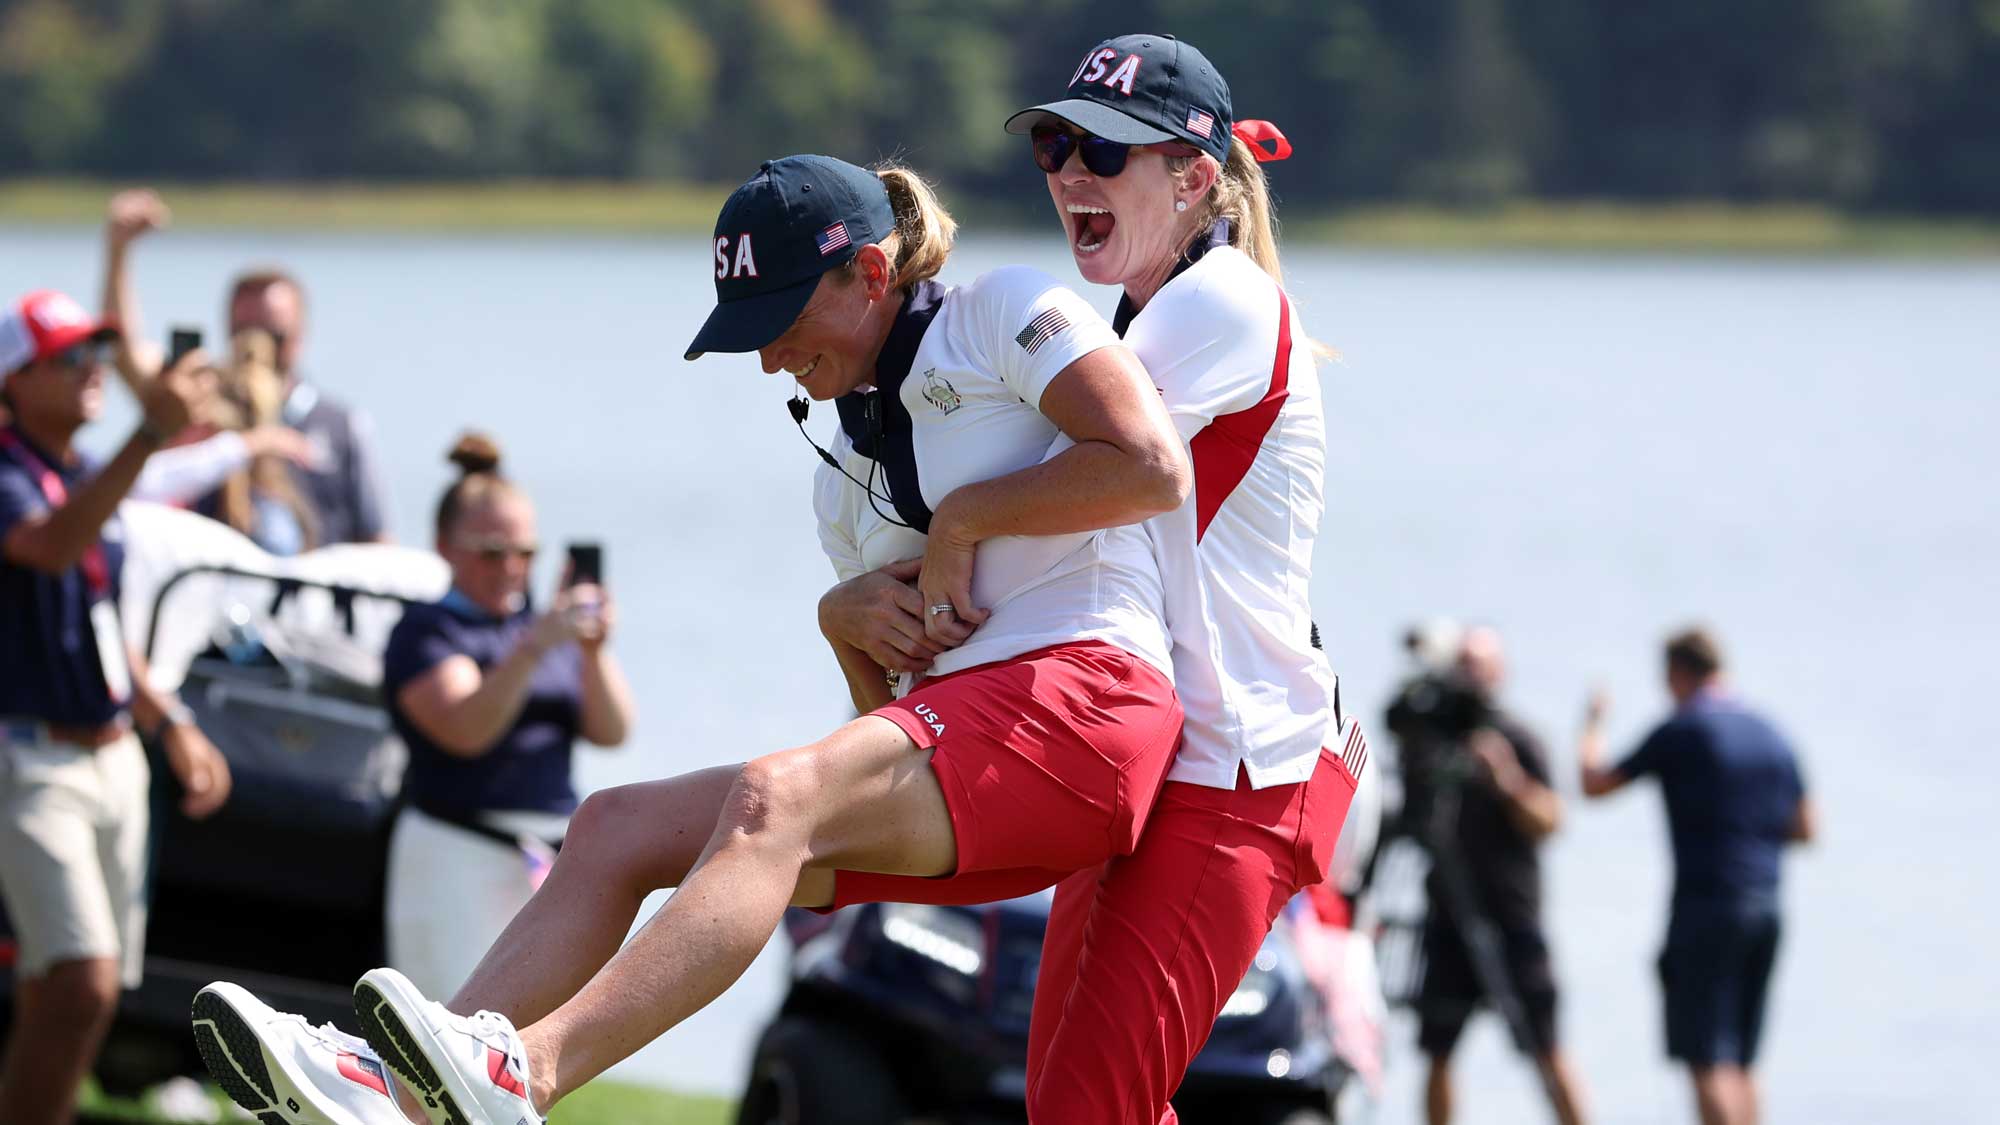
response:
<path fill-rule="evenodd" d="M 584 713 L 584 663 L 576 645 L 542 655 L 528 703 L 490 751 L 476 759 L 448 753 L 410 723 L 396 697 L 404 685 L 448 657 L 472 657 L 488 671 L 534 625 L 534 611 L 490 617 L 456 591 L 434 605 L 410 607 L 382 653 L 382 697 L 410 747 L 404 799 L 426 813 L 472 817 L 484 811 L 574 813 L 570 747 Z"/>

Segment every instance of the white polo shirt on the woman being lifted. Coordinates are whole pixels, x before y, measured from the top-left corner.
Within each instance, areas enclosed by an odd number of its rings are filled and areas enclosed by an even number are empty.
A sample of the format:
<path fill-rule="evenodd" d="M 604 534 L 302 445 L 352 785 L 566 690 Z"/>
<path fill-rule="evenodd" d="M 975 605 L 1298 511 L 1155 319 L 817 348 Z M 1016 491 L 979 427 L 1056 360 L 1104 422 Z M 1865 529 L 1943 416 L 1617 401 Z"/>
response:
<path fill-rule="evenodd" d="M 924 504 L 954 488 L 1038 464 L 1072 442 L 1040 412 L 1042 392 L 1118 334 L 1052 276 L 1002 268 L 944 294 L 902 380 Z M 870 460 L 836 434 L 834 456 L 860 480 Z M 884 474 L 876 490 L 886 494 Z M 882 512 L 894 514 L 888 502 Z M 846 581 L 924 552 L 860 484 L 822 464 L 814 478 L 820 544 Z M 972 560 L 972 601 L 992 617 L 932 663 L 930 675 L 1006 661 L 1068 641 L 1104 641 L 1174 675 L 1160 569 L 1142 524 L 1052 536 L 996 536 Z"/>

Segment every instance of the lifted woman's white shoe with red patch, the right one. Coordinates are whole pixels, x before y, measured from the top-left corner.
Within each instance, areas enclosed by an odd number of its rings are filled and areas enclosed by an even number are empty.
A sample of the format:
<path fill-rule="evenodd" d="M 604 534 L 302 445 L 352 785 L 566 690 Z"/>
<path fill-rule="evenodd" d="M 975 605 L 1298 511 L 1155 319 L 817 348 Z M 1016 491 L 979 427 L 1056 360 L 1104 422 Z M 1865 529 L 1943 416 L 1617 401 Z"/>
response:
<path fill-rule="evenodd" d="M 394 969 L 356 981 L 354 1015 L 432 1125 L 542 1125 L 528 1101 L 528 1051 L 504 1015 L 456 1015 Z"/>

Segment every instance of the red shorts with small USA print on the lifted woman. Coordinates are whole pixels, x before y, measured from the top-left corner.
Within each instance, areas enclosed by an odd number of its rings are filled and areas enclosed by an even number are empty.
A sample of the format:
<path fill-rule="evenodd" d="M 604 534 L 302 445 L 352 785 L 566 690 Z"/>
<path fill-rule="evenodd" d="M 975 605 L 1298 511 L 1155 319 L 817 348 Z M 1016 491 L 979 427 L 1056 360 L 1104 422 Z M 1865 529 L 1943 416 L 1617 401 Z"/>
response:
<path fill-rule="evenodd" d="M 934 751 L 958 873 L 842 871 L 826 909 L 988 903 L 1130 855 L 1180 743 L 1174 685 L 1100 641 L 926 679 L 872 715 Z"/>

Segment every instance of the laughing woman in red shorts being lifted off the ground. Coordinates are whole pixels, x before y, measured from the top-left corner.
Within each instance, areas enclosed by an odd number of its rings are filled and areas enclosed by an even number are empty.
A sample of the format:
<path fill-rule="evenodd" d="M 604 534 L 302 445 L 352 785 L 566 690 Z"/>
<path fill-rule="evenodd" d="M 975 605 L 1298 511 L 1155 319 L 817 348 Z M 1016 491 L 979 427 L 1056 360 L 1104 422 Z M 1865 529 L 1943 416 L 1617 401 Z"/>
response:
<path fill-rule="evenodd" d="M 758 352 L 836 404 L 820 538 L 848 581 L 910 575 L 902 643 L 936 657 L 898 699 L 894 669 L 822 615 L 866 715 L 592 795 L 448 1005 L 364 975 L 362 1031 L 432 1121 L 538 1123 L 714 1001 L 788 903 L 1006 899 L 1138 837 L 1180 705 L 1136 524 L 1186 496 L 1186 454 L 1132 354 L 1054 278 L 938 284 L 954 228 L 916 174 L 826 156 L 766 162 L 724 204 L 718 304 L 688 358 Z M 880 534 L 898 522 L 908 536 Z M 620 949 L 658 887 L 678 891 Z"/>

